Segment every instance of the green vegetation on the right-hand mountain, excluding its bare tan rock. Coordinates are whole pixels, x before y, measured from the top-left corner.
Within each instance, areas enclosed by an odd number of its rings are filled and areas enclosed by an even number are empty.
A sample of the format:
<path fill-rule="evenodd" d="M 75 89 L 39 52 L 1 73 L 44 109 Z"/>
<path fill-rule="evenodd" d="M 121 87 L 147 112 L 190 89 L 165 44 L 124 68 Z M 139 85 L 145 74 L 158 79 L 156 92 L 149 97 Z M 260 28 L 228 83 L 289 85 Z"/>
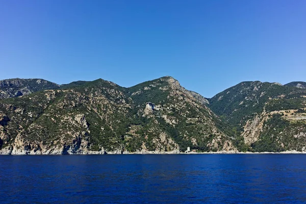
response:
<path fill-rule="evenodd" d="M 227 121 L 234 127 L 236 135 L 243 132 L 242 127 L 246 121 L 252 121 L 256 116 L 261 118 L 264 112 L 268 113 L 269 119 L 265 121 L 256 142 L 248 146 L 242 137 L 236 136 L 235 145 L 240 151 L 301 150 L 299 146 L 304 142 L 294 138 L 293 135 L 303 131 L 304 123 L 301 121 L 289 122 L 283 117 L 288 117 L 289 111 L 287 110 L 297 110 L 297 114 L 304 113 L 303 108 L 306 104 L 304 95 L 306 95 L 306 90 L 295 86 L 242 82 L 211 98 L 209 107 L 220 115 L 223 121 Z M 272 111 L 281 110 L 285 113 L 270 114 Z"/>

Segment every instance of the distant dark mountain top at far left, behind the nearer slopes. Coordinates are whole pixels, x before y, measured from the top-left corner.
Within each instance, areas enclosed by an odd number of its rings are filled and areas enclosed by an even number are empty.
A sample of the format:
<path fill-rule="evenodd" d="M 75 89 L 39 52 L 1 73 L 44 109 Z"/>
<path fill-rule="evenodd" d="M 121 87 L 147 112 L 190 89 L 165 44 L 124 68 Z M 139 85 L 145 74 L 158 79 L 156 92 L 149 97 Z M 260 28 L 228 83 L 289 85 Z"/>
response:
<path fill-rule="evenodd" d="M 42 79 L 8 79 L 0 81 L 0 99 L 27 95 L 46 89 L 57 89 L 60 85 Z"/>

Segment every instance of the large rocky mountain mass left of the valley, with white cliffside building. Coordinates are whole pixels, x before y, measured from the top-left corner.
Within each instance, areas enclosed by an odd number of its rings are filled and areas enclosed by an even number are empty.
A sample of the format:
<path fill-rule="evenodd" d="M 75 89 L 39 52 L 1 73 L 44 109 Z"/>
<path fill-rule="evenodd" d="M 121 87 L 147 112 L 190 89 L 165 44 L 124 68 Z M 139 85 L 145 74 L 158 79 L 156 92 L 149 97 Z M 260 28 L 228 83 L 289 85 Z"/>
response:
<path fill-rule="evenodd" d="M 207 107 L 208 100 L 171 77 L 130 88 L 101 79 L 53 85 L 0 100 L 1 154 L 237 151 L 239 146 L 239 137 Z"/>

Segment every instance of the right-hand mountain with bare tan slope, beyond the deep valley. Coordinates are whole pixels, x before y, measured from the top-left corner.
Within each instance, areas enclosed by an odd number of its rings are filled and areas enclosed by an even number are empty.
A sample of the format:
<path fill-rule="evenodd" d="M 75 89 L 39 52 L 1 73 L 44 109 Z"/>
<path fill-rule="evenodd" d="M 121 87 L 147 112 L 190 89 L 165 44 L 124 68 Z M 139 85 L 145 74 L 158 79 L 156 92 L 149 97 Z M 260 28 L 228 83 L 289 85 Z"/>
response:
<path fill-rule="evenodd" d="M 242 82 L 210 98 L 209 108 L 241 135 L 243 150 L 304 151 L 306 89 L 297 84 Z"/>

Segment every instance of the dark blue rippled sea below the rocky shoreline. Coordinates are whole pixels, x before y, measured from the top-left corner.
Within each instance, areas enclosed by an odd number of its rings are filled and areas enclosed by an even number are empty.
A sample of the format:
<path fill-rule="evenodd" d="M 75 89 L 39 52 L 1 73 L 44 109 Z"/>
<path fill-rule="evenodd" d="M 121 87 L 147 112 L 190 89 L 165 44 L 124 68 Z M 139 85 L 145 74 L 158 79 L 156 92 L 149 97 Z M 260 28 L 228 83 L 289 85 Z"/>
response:
<path fill-rule="evenodd" d="M 306 155 L 0 156 L 0 203 L 306 203 Z"/>

